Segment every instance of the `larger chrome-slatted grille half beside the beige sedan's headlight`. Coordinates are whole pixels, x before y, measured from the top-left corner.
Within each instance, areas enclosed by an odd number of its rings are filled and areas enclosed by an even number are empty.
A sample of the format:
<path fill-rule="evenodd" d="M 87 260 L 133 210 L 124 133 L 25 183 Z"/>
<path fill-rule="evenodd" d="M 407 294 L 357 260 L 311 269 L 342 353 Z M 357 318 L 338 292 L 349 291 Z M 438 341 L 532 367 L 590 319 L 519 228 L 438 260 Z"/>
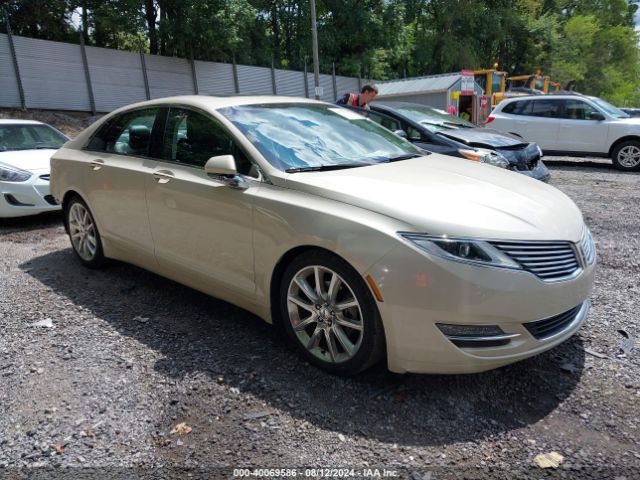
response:
<path fill-rule="evenodd" d="M 545 281 L 572 276 L 580 269 L 571 242 L 490 242 L 518 262 L 524 270 Z"/>

